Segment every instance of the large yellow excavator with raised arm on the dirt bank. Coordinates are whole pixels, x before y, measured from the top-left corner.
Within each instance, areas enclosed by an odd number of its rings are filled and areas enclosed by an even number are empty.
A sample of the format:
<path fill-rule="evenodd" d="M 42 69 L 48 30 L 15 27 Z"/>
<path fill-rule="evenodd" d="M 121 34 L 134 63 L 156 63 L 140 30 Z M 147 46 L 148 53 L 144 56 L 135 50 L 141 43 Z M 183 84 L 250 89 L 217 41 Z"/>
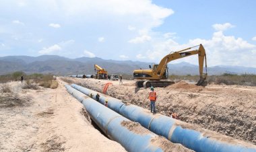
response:
<path fill-rule="evenodd" d="M 198 49 L 190 50 L 199 46 Z M 170 61 L 174 61 L 177 59 L 181 59 L 187 56 L 191 56 L 194 54 L 198 54 L 199 61 L 199 76 L 200 79 L 196 85 L 207 85 L 207 81 L 205 81 L 207 77 L 207 64 L 206 64 L 206 54 L 205 49 L 202 44 L 197 46 L 193 46 L 190 48 L 185 48 L 183 50 L 179 50 L 177 52 L 170 52 L 170 54 L 164 56 L 164 58 L 160 61 L 159 65 L 150 65 L 150 69 L 139 69 L 133 71 L 133 78 L 138 79 L 135 85 L 137 87 L 166 87 L 170 84 L 173 84 L 173 81 L 168 81 L 168 67 L 167 64 Z M 185 51 L 189 50 L 189 51 Z M 205 61 L 205 73 L 203 73 L 203 62 Z"/>

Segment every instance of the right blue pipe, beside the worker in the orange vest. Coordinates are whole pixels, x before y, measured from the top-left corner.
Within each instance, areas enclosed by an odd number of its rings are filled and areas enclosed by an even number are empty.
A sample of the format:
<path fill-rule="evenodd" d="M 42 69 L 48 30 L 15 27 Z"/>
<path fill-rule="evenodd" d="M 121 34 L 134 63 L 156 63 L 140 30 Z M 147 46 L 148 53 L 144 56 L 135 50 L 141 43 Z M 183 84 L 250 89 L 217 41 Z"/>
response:
<path fill-rule="evenodd" d="M 72 84 L 73 88 L 95 98 L 98 92 L 79 85 Z M 129 120 L 139 122 L 141 126 L 148 128 L 157 135 L 166 137 L 172 143 L 181 143 L 183 146 L 194 151 L 209 152 L 256 152 L 256 146 L 243 141 L 238 141 L 216 132 L 193 126 L 162 114 L 152 114 L 149 110 L 140 108 L 133 104 L 125 104 L 116 98 L 111 98 L 102 93 L 99 102 L 104 104 L 108 100 L 108 108 L 125 116 Z"/>

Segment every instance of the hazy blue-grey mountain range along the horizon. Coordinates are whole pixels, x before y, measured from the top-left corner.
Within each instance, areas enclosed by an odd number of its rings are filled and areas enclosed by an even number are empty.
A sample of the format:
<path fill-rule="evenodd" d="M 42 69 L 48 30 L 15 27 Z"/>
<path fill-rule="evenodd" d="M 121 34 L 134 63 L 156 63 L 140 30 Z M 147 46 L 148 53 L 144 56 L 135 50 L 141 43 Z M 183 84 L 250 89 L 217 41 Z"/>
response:
<path fill-rule="evenodd" d="M 108 73 L 125 73 L 132 75 L 134 69 L 148 69 L 151 63 L 139 61 L 115 61 L 104 60 L 98 57 L 81 57 L 68 59 L 57 55 L 42 56 L 3 56 L 0 57 L 0 75 L 14 71 L 25 73 L 53 73 L 55 75 L 93 74 L 94 64 L 106 69 Z M 175 75 L 198 75 L 198 66 L 189 63 L 170 64 L 169 73 Z M 239 66 L 208 67 L 209 75 L 221 75 L 223 73 L 256 74 L 256 68 Z"/>

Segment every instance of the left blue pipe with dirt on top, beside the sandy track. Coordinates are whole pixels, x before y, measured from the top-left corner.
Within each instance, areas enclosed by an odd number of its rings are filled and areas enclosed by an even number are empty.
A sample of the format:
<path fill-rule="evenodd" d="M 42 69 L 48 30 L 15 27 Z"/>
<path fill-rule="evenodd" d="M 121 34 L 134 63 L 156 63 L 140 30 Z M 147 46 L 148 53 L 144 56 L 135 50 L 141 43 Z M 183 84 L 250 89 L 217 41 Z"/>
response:
<path fill-rule="evenodd" d="M 84 96 L 70 85 L 65 87 L 86 107 L 88 115 L 100 130 L 110 139 L 120 143 L 127 151 L 191 151 L 181 144 L 170 143 L 137 123 L 131 122 L 92 98 Z"/>

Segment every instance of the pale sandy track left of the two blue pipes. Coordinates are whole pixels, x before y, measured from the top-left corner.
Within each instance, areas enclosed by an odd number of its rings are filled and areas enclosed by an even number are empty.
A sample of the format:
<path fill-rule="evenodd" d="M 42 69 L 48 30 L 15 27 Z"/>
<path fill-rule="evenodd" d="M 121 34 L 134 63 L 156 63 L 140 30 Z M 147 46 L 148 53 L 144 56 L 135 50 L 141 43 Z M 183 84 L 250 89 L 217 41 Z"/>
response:
<path fill-rule="evenodd" d="M 1 93 L 0 151 L 125 151 L 92 126 L 63 83 L 36 90 L 22 89 L 20 82 L 9 85 L 23 103 L 8 104 L 12 100 L 3 101 L 7 93 Z"/>

